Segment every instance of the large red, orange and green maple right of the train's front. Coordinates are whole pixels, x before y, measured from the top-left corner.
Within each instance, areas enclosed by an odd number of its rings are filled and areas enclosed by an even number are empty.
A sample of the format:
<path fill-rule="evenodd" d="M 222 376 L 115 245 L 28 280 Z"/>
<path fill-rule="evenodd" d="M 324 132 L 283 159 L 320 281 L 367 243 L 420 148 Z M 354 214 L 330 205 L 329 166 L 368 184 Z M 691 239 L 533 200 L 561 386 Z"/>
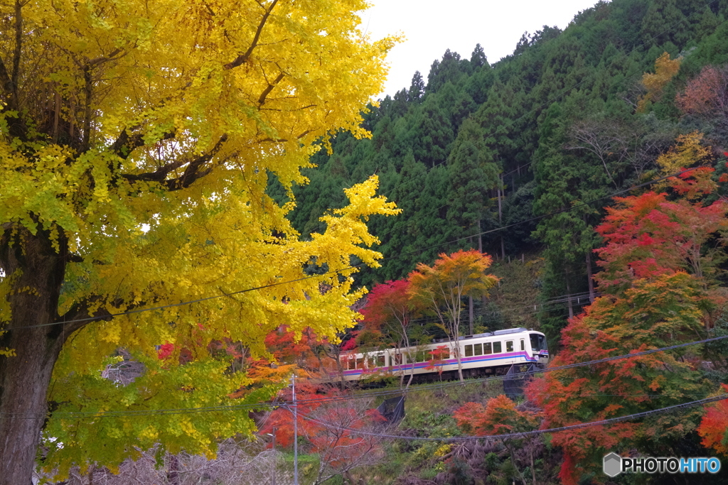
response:
<path fill-rule="evenodd" d="M 671 180 L 674 194 L 648 192 L 616 199 L 596 231 L 604 270 L 596 279 L 604 296 L 569 320 L 562 351 L 550 366 L 668 347 L 705 336 L 724 301 L 716 281 L 728 204 L 687 197 L 689 186 L 709 174 L 687 172 Z M 713 184 L 713 187 L 715 184 Z M 704 185 L 710 192 L 709 184 Z M 684 196 L 680 197 L 679 195 Z M 697 194 L 697 191 L 696 191 Z M 606 420 L 693 401 L 710 386 L 697 368 L 695 350 L 673 350 L 549 372 L 533 380 L 526 396 L 544 411 L 542 428 Z M 604 454 L 661 456 L 670 443 L 695 430 L 700 410 L 655 414 L 639 422 L 615 422 L 553 433 L 561 446 L 563 484 L 598 472 Z"/>

